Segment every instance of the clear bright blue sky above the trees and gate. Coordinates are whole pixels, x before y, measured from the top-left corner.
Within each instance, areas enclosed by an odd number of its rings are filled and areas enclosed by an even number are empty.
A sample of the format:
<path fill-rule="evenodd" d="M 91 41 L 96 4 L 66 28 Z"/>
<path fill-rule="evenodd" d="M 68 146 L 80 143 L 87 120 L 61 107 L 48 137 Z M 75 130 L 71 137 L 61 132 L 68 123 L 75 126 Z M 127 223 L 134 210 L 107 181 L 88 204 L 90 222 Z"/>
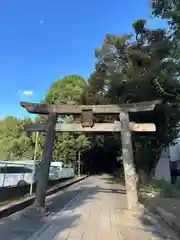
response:
<path fill-rule="evenodd" d="M 28 116 L 20 101 L 39 102 L 54 80 L 88 78 L 106 33 L 132 31 L 149 19 L 149 0 L 1 0 L 0 118 Z M 149 19 L 152 28 L 165 27 Z"/>

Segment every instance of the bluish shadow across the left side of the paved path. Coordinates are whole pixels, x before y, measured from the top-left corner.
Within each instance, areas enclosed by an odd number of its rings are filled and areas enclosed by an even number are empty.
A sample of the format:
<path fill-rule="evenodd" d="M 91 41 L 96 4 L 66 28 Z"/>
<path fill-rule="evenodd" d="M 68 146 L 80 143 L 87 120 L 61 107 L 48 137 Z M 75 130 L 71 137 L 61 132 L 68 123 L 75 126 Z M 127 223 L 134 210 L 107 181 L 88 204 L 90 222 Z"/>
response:
<path fill-rule="evenodd" d="M 87 181 L 87 180 L 85 180 Z M 48 212 L 46 216 L 37 214 L 32 206 L 22 210 L 19 213 L 15 213 L 9 217 L 2 218 L 0 220 L 0 239 L 6 240 L 28 240 L 35 232 L 42 228 L 43 234 L 51 235 L 61 234 L 63 230 L 75 227 L 78 223 L 81 215 L 73 213 L 72 199 L 76 199 L 77 196 L 85 194 L 85 197 L 78 197 L 78 205 L 82 206 L 86 201 L 91 201 L 94 195 L 98 192 L 97 186 L 85 186 L 85 181 L 79 183 L 77 187 L 73 189 L 70 187 L 63 192 L 59 192 L 47 198 Z M 68 214 L 59 214 L 61 210 L 67 205 L 68 202 L 72 204 L 66 208 Z M 78 206 L 76 204 L 76 207 Z M 72 214 L 73 213 L 73 214 Z M 49 225 L 53 224 L 53 229 L 48 231 Z M 43 230 L 43 228 L 45 228 Z M 68 234 L 68 233 L 67 233 Z M 49 235 L 48 235 L 49 236 Z M 52 236 L 53 237 L 53 236 Z M 45 237 L 44 237 L 45 238 Z M 43 239 L 44 239 L 43 238 Z M 51 236 L 49 236 L 51 240 Z"/>

